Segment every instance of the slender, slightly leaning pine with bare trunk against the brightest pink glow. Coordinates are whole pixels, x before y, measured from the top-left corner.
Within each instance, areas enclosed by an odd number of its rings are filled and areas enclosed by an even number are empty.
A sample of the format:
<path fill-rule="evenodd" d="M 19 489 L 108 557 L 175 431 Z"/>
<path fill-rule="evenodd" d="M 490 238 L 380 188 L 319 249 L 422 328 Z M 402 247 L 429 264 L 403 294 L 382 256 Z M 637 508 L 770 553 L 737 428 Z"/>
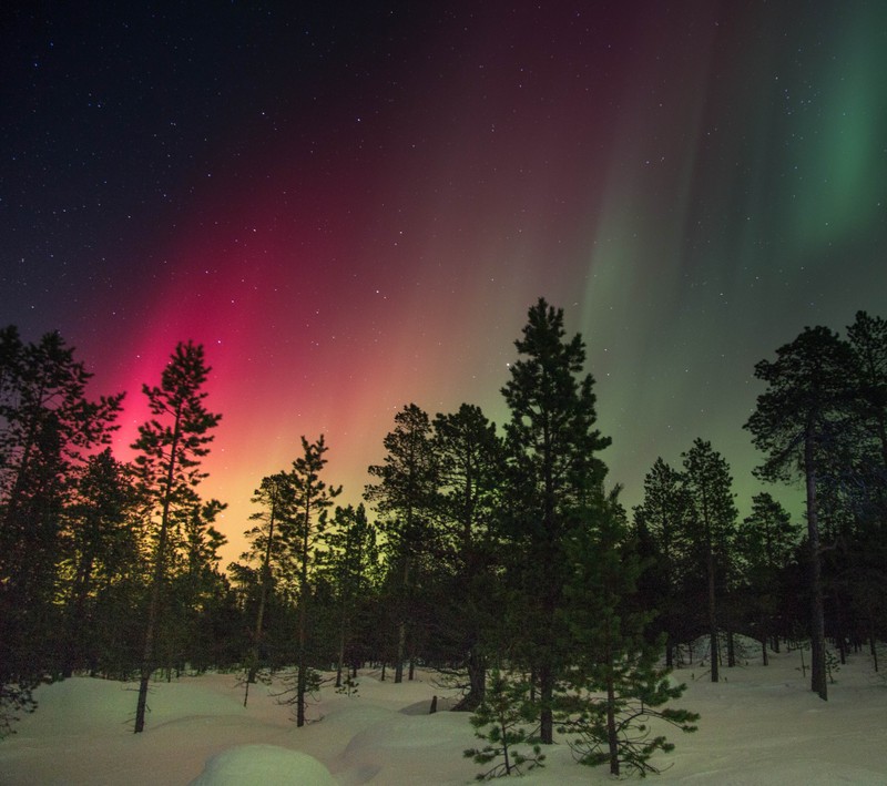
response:
<path fill-rule="evenodd" d="M 163 369 L 160 386 L 142 388 L 153 417 L 139 427 L 139 438 L 132 447 L 137 451 L 136 477 L 146 500 L 145 514 L 155 530 L 155 544 L 135 708 L 136 734 L 144 729 L 147 687 L 156 665 L 161 600 L 172 558 L 171 529 L 183 511 L 186 514 L 198 502 L 195 487 L 205 477 L 200 471 L 200 460 L 210 452 L 210 430 L 222 417 L 204 406 L 207 394 L 202 388 L 210 370 L 202 346 L 180 343 Z"/>

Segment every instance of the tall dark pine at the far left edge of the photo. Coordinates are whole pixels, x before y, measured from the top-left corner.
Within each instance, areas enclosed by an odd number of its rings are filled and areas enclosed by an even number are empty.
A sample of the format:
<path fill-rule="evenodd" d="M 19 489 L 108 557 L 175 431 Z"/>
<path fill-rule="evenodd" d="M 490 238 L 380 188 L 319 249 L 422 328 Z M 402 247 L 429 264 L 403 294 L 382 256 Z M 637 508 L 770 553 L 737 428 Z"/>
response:
<path fill-rule="evenodd" d="M 0 330 L 0 725 L 6 707 L 32 707 L 32 688 L 65 667 L 64 511 L 123 399 L 89 400 L 91 377 L 58 333 L 26 344 L 14 327 Z"/>

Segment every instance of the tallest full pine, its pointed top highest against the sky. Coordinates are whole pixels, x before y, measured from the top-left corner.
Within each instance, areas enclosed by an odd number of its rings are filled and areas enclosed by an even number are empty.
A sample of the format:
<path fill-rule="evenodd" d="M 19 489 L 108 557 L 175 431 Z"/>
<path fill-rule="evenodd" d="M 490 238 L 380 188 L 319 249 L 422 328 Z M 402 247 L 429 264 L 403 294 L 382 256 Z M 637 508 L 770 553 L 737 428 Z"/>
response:
<path fill-rule="evenodd" d="M 564 550 L 577 511 L 603 483 L 605 468 L 597 453 L 610 440 L 594 428 L 594 380 L 582 376 L 585 346 L 579 335 L 565 339 L 562 309 L 540 298 L 516 347 L 521 357 L 502 389 L 511 410 L 507 529 L 512 574 L 526 604 L 527 654 L 539 684 L 540 737 L 551 744 L 554 686 L 569 649 L 557 614 Z"/>

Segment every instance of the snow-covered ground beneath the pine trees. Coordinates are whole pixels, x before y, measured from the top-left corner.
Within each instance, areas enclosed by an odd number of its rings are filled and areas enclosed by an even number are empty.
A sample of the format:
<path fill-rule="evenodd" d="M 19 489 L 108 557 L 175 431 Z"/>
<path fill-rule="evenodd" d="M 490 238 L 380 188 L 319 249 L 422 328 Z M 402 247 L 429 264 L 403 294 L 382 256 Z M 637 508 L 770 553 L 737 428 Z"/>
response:
<path fill-rule="evenodd" d="M 656 759 L 667 769 L 646 783 L 887 783 L 887 682 L 866 655 L 855 655 L 835 674 L 825 703 L 807 690 L 799 666 L 797 652 L 783 653 L 766 667 L 753 661 L 724 668 L 720 684 L 699 668 L 679 670 L 675 676 L 687 683 L 680 706 L 702 714 L 700 731 L 673 731 L 676 751 Z M 253 686 L 244 708 L 230 674 L 156 683 L 141 735 L 132 734 L 134 685 L 85 677 L 47 685 L 38 691 L 37 713 L 0 742 L 0 784 L 471 782 L 480 767 L 461 752 L 480 741 L 468 715 L 428 714 L 432 695 L 446 704 L 434 675 L 422 672 L 400 685 L 378 676 L 361 673 L 357 696 L 324 688 L 309 711 L 315 722 L 300 729 L 263 685 Z M 544 769 L 520 783 L 610 780 L 605 768 L 574 764 L 565 745 L 546 753 Z"/>

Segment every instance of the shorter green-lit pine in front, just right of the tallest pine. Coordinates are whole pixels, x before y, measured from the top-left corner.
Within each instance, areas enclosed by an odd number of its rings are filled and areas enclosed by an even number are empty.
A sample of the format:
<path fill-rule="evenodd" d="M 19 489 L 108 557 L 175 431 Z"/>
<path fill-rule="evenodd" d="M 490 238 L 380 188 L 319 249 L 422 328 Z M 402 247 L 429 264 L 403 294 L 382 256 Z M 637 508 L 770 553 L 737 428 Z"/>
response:
<path fill-rule="evenodd" d="M 645 775 L 659 772 L 650 763 L 655 752 L 674 748 L 664 735 L 652 735 L 650 719 L 693 732 L 699 715 L 667 706 L 684 686 L 670 684 L 670 670 L 657 665 L 661 642 L 645 640 L 648 617 L 631 610 L 641 565 L 618 492 L 590 506 L 585 527 L 571 537 L 564 594 L 577 655 L 564 675 L 571 690 L 559 700 L 559 722 L 581 764 L 609 764 L 615 776 Z"/>

